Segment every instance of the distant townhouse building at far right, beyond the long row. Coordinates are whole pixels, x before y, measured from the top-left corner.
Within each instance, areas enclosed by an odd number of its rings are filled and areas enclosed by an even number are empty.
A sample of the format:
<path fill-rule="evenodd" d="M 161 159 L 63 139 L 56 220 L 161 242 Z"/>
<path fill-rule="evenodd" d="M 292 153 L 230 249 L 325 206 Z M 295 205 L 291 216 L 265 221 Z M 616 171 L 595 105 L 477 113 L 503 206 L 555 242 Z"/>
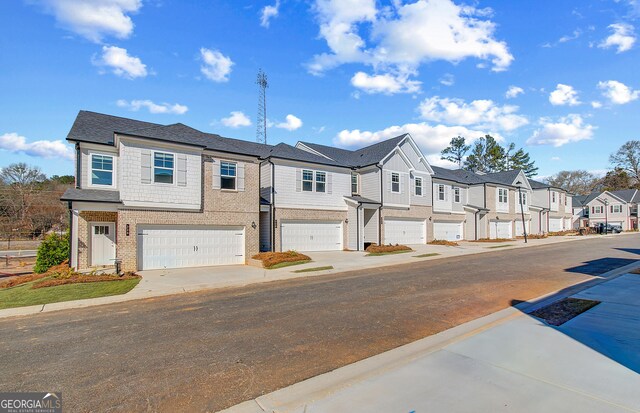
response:
<path fill-rule="evenodd" d="M 640 191 L 592 192 L 573 197 L 573 227 L 594 227 L 609 223 L 625 231 L 638 229 L 638 202 Z"/>

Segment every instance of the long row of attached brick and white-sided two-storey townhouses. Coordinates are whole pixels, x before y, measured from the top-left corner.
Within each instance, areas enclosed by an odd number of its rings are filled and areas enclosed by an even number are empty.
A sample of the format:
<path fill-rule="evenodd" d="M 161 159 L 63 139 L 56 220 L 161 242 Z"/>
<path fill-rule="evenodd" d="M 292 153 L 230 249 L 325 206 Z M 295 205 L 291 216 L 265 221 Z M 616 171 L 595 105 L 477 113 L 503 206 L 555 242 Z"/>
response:
<path fill-rule="evenodd" d="M 513 238 L 571 224 L 565 191 L 519 170 L 431 166 L 408 134 L 356 151 L 271 146 L 81 111 L 67 139 L 76 185 L 62 200 L 78 269 L 244 264 L 259 251 Z"/>

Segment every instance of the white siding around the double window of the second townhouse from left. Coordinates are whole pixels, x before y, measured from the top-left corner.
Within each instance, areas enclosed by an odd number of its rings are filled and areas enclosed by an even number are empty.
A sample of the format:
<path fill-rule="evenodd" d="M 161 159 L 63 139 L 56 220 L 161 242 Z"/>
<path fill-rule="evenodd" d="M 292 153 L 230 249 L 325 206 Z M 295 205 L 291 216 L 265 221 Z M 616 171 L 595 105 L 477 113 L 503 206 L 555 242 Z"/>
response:
<path fill-rule="evenodd" d="M 351 171 L 326 165 L 313 165 L 294 162 L 275 164 L 276 207 L 347 210 L 345 196 L 351 196 Z M 302 169 L 326 173 L 325 192 L 298 191 L 297 179 Z"/>

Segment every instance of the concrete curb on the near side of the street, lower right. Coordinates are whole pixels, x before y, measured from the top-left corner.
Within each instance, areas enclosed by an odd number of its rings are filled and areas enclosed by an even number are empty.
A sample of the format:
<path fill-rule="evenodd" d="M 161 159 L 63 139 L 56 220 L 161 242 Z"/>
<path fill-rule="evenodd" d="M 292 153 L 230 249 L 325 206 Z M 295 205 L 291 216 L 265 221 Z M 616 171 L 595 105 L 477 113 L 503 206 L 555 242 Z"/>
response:
<path fill-rule="evenodd" d="M 219 413 L 304 412 L 307 403 L 325 398 L 370 377 L 379 376 L 387 371 L 407 365 L 449 344 L 474 336 L 507 321 L 523 317 L 538 308 L 614 280 L 636 268 L 640 268 L 640 260 L 596 276 L 597 278 L 542 295 L 253 400 L 242 402 Z"/>

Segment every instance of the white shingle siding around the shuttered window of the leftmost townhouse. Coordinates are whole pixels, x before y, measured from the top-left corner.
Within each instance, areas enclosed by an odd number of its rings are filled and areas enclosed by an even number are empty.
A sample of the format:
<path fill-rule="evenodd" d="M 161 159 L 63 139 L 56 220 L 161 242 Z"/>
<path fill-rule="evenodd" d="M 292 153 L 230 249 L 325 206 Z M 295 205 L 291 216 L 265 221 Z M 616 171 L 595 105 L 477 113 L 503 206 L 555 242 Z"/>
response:
<path fill-rule="evenodd" d="M 174 183 L 153 182 L 153 152 L 174 154 Z M 151 182 L 142 183 L 142 157 L 151 157 Z M 184 159 L 186 183 L 178 185 L 178 157 Z M 202 157 L 199 151 L 167 149 L 120 140 L 118 175 L 120 198 L 125 206 L 199 209 L 201 206 Z"/>

